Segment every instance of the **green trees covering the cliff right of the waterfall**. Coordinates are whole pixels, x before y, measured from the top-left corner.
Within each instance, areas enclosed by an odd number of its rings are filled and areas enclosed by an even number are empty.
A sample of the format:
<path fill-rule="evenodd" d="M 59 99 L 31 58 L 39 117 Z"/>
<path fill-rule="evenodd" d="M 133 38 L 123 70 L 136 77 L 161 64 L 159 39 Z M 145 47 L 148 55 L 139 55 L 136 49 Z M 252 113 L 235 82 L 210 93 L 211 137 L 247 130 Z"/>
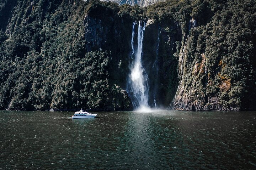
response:
<path fill-rule="evenodd" d="M 217 97 L 224 108 L 255 109 L 256 2 L 198 0 L 196 4 L 201 5 L 191 15 L 198 18 L 199 27 L 190 32 L 185 90 L 205 104 Z M 203 73 L 195 75 L 202 54 Z"/>

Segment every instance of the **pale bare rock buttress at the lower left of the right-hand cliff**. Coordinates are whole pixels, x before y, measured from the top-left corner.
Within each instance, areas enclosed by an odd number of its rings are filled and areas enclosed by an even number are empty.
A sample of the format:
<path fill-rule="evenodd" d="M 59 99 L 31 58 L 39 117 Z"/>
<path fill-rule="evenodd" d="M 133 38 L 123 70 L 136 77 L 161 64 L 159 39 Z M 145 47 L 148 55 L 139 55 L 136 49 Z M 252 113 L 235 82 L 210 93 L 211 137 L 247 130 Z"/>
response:
<path fill-rule="evenodd" d="M 179 62 L 178 62 L 178 78 L 180 79 L 180 82 L 177 87 L 177 91 L 174 97 L 173 101 L 173 108 L 177 110 L 185 110 L 185 111 L 206 111 L 208 108 L 206 107 L 206 98 L 203 93 L 201 95 L 195 96 L 194 94 L 199 90 L 197 88 L 193 89 L 185 89 L 185 76 L 190 75 L 196 79 L 196 77 L 202 77 L 203 74 L 205 74 L 206 66 L 206 56 L 204 53 L 201 54 L 202 61 L 200 63 L 195 63 L 192 73 L 190 72 L 190 69 L 186 66 L 186 60 L 188 55 L 188 46 L 191 43 L 190 36 L 187 36 L 184 38 L 183 41 L 183 48 L 180 49 L 179 53 Z M 191 75 L 192 74 L 192 75 Z M 207 103 L 207 106 L 212 107 L 212 110 L 220 110 L 222 111 L 222 108 L 218 105 L 218 98 L 217 97 L 211 97 L 209 100 L 209 103 Z"/>

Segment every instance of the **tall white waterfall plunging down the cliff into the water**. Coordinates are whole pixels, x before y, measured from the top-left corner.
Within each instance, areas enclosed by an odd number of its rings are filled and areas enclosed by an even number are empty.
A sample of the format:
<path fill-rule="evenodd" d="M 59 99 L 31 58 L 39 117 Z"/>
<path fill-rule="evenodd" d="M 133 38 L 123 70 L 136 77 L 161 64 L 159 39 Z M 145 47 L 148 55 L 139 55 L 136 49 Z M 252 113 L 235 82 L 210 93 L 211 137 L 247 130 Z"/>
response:
<path fill-rule="evenodd" d="M 138 25 L 137 48 L 134 46 L 135 26 Z M 142 45 L 146 24 L 143 21 L 133 23 L 132 32 L 132 62 L 130 63 L 130 74 L 128 77 L 127 91 L 136 109 L 149 108 L 148 104 L 148 75 L 142 66 Z"/>

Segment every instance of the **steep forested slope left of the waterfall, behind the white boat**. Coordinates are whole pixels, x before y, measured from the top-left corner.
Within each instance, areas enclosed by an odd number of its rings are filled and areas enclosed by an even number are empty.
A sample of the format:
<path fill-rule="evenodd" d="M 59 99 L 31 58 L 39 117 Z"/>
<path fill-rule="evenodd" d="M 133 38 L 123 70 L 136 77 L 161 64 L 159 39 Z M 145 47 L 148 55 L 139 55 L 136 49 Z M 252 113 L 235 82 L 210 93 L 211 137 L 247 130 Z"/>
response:
<path fill-rule="evenodd" d="M 99 17 L 95 8 L 108 14 L 100 27 L 114 32 L 107 22 L 114 21 L 115 7 L 84 1 L 18 1 L 1 28 L 0 108 L 132 109 L 122 83 L 112 78 L 118 53 L 103 51 L 104 44 L 92 46 L 93 33 L 88 32 Z"/>

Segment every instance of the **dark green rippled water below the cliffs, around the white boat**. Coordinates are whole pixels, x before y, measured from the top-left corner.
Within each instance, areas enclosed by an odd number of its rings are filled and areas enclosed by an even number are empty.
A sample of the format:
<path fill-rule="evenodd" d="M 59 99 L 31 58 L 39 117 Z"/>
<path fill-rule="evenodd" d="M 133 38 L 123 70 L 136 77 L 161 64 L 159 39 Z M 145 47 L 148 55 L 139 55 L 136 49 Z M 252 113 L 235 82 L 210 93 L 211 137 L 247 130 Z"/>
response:
<path fill-rule="evenodd" d="M 0 111 L 0 169 L 256 169 L 256 112 L 97 114 Z"/>

